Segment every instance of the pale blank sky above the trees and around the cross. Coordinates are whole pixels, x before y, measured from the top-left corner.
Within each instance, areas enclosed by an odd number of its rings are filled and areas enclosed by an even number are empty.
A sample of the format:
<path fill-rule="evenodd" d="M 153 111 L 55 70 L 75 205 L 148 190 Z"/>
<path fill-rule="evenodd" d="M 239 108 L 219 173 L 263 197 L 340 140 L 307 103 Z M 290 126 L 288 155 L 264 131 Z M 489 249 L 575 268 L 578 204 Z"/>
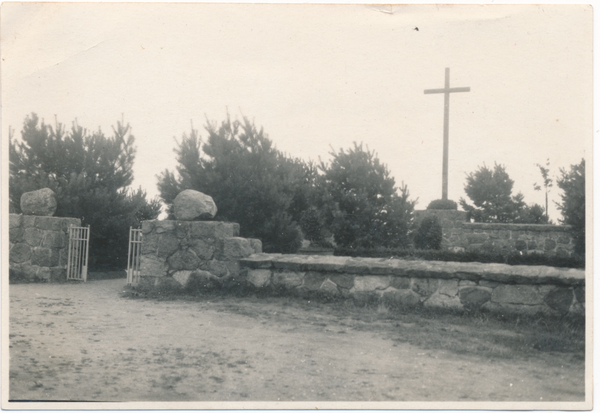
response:
<path fill-rule="evenodd" d="M 449 198 L 497 162 L 543 205 L 535 164 L 592 156 L 590 6 L 5 3 L 1 23 L 3 137 L 31 112 L 107 134 L 123 113 L 151 197 L 173 137 L 228 110 L 306 160 L 364 142 L 424 209 L 441 198 L 443 95 L 423 91 L 446 67 L 471 88 L 450 96 Z"/>

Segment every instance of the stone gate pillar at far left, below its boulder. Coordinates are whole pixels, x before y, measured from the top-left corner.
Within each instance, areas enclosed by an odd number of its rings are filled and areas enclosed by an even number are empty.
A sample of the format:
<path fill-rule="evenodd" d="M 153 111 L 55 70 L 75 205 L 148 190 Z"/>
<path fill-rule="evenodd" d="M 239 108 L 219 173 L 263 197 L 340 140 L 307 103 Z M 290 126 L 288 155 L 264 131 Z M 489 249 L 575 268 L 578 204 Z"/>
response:
<path fill-rule="evenodd" d="M 11 279 L 61 282 L 67 278 L 70 226 L 77 218 L 9 216 Z"/>

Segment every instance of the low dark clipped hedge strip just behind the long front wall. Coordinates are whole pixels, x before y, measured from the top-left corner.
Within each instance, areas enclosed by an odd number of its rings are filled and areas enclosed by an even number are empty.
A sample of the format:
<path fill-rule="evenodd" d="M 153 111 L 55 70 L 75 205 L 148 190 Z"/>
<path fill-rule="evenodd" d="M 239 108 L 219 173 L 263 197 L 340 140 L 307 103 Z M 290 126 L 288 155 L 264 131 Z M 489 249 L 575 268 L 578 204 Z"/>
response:
<path fill-rule="evenodd" d="M 446 250 L 419 250 L 400 248 L 341 248 L 334 251 L 340 257 L 399 258 L 404 260 L 480 262 L 509 265 L 546 265 L 549 267 L 585 268 L 581 256 L 559 257 L 544 254 L 521 255 L 518 251 L 494 253 L 481 251 L 453 252 Z"/>

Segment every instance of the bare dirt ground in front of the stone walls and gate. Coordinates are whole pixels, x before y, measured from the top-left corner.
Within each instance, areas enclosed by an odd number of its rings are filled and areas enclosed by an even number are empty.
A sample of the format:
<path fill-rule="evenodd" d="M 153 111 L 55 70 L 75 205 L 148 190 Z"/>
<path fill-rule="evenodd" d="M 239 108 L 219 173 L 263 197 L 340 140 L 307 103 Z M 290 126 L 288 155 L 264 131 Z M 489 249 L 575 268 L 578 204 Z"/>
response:
<path fill-rule="evenodd" d="M 584 362 L 569 354 L 485 359 L 424 350 L 401 342 L 391 322 L 365 325 L 281 300 L 131 299 L 120 295 L 124 285 L 10 286 L 11 400 L 584 397 Z"/>

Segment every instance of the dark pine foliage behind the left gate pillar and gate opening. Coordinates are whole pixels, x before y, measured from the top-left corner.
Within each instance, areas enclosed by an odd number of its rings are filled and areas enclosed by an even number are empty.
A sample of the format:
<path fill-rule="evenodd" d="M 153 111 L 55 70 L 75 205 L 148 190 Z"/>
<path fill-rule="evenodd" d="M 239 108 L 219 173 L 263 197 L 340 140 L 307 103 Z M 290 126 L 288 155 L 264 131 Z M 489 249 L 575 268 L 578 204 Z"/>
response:
<path fill-rule="evenodd" d="M 123 267 L 129 226 L 160 213 L 158 200 L 131 191 L 135 138 L 120 122 L 113 136 L 90 133 L 76 122 L 69 131 L 40 122 L 36 114 L 23 124 L 21 140 L 10 137 L 10 211 L 20 213 L 24 192 L 52 189 L 55 216 L 75 217 L 90 225 L 90 266 Z"/>

